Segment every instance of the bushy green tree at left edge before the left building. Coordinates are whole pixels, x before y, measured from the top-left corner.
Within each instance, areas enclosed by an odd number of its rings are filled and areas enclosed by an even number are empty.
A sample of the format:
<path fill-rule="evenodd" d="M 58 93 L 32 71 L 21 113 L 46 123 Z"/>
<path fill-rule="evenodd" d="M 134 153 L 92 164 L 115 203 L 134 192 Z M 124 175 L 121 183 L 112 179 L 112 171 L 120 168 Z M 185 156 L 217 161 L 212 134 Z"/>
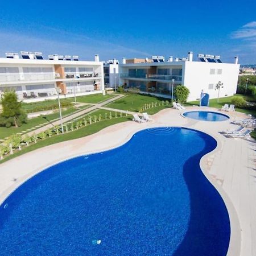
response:
<path fill-rule="evenodd" d="M 27 122 L 27 114 L 22 110 L 21 102 L 14 91 L 6 91 L 3 93 L 2 99 L 2 113 L 0 125 L 10 127 L 18 127 L 22 123 Z"/>

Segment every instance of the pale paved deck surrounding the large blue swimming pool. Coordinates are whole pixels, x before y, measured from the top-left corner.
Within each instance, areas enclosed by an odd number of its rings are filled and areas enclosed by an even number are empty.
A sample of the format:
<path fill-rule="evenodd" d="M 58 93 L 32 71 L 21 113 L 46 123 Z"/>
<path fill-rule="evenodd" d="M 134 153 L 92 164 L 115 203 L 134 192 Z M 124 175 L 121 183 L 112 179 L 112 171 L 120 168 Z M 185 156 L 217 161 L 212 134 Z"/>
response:
<path fill-rule="evenodd" d="M 187 110 L 199 110 L 189 107 Z M 202 110 L 202 108 L 200 108 Z M 204 108 L 204 110 L 217 111 Z M 256 143 L 253 140 L 226 138 L 219 132 L 236 129 L 232 119 L 245 118 L 242 113 L 226 113 L 228 121 L 197 121 L 181 116 L 182 111 L 164 109 L 152 115 L 154 121 L 118 123 L 96 134 L 65 141 L 18 156 L 0 164 L 0 204 L 20 184 L 62 160 L 120 146 L 139 130 L 159 126 L 182 126 L 208 133 L 217 148 L 203 156 L 200 166 L 218 189 L 228 208 L 231 238 L 228 255 L 256 255 Z"/>

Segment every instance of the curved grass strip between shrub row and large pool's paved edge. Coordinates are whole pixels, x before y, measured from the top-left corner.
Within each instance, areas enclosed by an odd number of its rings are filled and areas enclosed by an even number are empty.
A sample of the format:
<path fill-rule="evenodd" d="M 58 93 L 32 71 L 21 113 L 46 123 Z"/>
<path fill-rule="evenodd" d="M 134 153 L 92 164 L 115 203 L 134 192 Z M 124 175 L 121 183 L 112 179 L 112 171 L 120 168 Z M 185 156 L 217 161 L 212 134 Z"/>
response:
<path fill-rule="evenodd" d="M 7 160 L 13 159 L 16 156 L 23 155 L 27 152 L 36 150 L 38 148 L 49 146 L 51 144 L 55 144 L 63 141 L 69 141 L 71 139 L 78 139 L 81 137 L 85 137 L 90 134 L 97 133 L 97 131 L 104 129 L 105 127 L 108 127 L 110 125 L 115 125 L 115 123 L 121 123 L 129 120 L 131 120 L 131 116 L 112 118 L 112 119 L 107 119 L 100 122 L 92 123 L 92 125 L 84 126 L 81 129 L 74 130 L 70 133 L 54 135 L 51 138 L 38 141 L 37 143 L 31 144 L 28 147 L 25 146 L 20 151 L 15 151 L 13 155 L 6 156 L 3 160 L 1 160 L 0 164 L 6 162 Z"/>

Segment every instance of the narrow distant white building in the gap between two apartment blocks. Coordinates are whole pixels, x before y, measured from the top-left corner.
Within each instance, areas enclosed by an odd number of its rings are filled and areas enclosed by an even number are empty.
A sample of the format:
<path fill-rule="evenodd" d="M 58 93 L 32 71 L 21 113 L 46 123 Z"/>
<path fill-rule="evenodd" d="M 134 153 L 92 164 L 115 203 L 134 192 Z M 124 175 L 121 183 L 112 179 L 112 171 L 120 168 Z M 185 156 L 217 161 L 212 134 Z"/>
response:
<path fill-rule="evenodd" d="M 105 88 L 117 88 L 119 85 L 119 62 L 117 59 L 105 61 L 104 82 Z"/>

